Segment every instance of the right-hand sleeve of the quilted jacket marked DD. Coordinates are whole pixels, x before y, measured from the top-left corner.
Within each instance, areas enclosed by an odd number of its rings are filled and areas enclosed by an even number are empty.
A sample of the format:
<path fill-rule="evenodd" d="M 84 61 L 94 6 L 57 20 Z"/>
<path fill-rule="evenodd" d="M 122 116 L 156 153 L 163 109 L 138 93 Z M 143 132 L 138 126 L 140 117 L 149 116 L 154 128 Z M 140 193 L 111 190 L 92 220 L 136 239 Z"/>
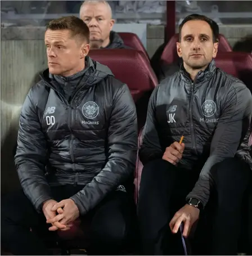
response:
<path fill-rule="evenodd" d="M 120 86 L 115 93 L 109 122 L 109 158 L 105 167 L 83 190 L 70 197 L 82 215 L 126 181 L 134 171 L 137 156 L 137 115 L 126 84 Z"/>

